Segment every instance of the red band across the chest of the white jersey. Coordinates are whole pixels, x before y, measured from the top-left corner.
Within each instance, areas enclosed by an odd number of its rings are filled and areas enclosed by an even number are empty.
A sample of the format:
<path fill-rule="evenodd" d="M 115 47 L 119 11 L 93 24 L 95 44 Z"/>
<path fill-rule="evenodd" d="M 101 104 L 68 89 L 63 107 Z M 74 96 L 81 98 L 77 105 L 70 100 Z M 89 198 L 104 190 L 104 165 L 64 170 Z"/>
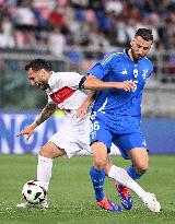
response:
<path fill-rule="evenodd" d="M 72 90 L 71 87 L 62 87 L 58 90 L 57 92 L 50 94 L 49 96 L 54 103 L 60 104 L 65 99 L 69 98 L 74 92 L 75 90 Z"/>

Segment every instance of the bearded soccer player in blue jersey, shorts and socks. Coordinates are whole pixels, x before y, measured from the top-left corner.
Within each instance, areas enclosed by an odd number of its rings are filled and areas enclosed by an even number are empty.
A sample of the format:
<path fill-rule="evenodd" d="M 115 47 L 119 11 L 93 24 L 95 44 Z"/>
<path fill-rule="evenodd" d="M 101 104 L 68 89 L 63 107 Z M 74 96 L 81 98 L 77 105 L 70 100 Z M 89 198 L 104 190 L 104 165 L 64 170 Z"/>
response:
<path fill-rule="evenodd" d="M 100 60 L 80 83 L 80 87 L 95 90 L 96 97 L 91 116 L 91 149 L 93 166 L 90 170 L 97 204 L 108 208 L 103 191 L 105 164 L 112 142 L 124 158 L 130 158 L 129 176 L 137 180 L 148 169 L 149 155 L 144 135 L 140 130 L 142 92 L 147 79 L 153 72 L 147 54 L 153 44 L 151 30 L 139 28 L 130 48 L 113 51 Z M 133 86 L 118 89 L 118 82 L 130 81 Z M 108 167 L 108 176 L 115 179 L 115 166 Z M 116 182 L 125 209 L 131 209 L 132 199 L 125 186 Z"/>

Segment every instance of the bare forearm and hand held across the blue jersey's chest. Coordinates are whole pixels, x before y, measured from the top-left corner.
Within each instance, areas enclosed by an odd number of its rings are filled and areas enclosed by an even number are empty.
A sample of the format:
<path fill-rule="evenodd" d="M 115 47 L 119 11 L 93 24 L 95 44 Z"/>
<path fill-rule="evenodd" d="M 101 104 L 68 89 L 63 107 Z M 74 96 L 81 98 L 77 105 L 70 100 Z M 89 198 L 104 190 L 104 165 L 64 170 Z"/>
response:
<path fill-rule="evenodd" d="M 83 87 L 86 90 L 109 90 L 109 89 L 118 89 L 124 91 L 132 91 L 135 87 L 133 82 L 124 81 L 124 82 L 103 82 L 98 80 L 93 74 L 89 75 L 83 83 Z"/>

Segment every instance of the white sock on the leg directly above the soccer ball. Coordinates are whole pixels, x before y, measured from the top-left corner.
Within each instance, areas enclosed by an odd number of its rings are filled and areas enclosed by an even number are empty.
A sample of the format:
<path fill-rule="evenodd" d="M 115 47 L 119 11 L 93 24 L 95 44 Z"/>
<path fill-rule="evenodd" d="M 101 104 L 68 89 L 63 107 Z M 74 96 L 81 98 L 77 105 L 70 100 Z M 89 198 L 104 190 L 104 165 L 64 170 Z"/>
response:
<path fill-rule="evenodd" d="M 38 155 L 37 164 L 37 180 L 43 187 L 48 190 L 48 185 L 51 178 L 52 158 L 44 157 Z"/>

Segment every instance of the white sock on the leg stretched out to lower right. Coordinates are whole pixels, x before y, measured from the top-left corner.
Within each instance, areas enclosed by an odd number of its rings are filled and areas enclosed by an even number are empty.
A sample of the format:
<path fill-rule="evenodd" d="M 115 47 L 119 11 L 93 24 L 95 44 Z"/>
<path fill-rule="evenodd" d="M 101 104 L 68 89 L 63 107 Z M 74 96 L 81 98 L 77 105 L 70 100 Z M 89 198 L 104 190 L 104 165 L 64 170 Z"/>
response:
<path fill-rule="evenodd" d="M 128 175 L 128 173 L 120 167 L 113 165 L 108 173 L 108 177 L 117 180 L 120 185 L 126 186 L 142 198 L 145 191 Z"/>

